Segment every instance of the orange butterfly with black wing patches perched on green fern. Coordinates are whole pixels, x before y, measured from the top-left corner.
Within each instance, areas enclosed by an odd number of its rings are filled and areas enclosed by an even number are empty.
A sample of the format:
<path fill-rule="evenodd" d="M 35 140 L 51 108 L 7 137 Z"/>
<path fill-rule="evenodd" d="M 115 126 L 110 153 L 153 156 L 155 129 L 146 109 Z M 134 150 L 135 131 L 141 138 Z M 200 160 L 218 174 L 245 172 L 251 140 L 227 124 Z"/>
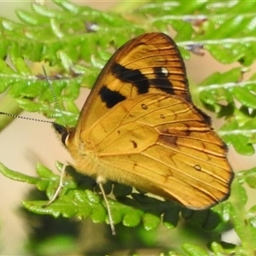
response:
<path fill-rule="evenodd" d="M 230 195 L 227 146 L 195 107 L 172 38 L 145 33 L 110 58 L 76 127 L 55 125 L 78 172 L 202 210 Z"/>

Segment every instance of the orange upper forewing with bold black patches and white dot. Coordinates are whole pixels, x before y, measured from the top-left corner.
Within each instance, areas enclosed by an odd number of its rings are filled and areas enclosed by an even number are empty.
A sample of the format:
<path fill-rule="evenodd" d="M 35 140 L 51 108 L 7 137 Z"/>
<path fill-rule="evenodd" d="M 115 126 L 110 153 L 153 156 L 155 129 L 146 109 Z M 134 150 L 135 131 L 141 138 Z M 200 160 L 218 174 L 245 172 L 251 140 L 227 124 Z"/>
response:
<path fill-rule="evenodd" d="M 113 54 L 84 103 L 79 127 L 87 129 L 118 102 L 160 91 L 190 101 L 177 45 L 166 34 L 152 32 L 132 39 Z"/>

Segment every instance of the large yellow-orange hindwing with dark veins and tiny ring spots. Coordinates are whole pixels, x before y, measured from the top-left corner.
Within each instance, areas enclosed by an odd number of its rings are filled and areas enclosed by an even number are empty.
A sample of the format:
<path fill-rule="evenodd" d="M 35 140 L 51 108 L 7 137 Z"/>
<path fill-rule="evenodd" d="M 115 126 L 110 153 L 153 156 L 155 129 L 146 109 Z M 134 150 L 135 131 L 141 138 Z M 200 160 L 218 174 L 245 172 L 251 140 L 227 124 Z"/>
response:
<path fill-rule="evenodd" d="M 145 94 L 120 102 L 82 137 L 84 161 L 97 166 L 85 167 L 96 172 L 90 175 L 108 173 L 111 180 L 193 209 L 229 195 L 225 145 L 201 113 L 180 97 Z"/>

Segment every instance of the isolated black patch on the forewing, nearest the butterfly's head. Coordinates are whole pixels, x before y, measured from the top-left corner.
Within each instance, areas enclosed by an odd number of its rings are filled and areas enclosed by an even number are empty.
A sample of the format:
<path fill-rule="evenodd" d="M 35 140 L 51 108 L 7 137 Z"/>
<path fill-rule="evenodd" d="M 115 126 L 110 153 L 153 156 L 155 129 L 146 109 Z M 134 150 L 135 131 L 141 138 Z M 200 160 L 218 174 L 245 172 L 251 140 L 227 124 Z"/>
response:
<path fill-rule="evenodd" d="M 106 85 L 103 85 L 99 91 L 102 102 L 106 103 L 107 108 L 113 108 L 119 102 L 125 101 L 126 97 L 121 95 L 116 90 L 110 90 Z"/>

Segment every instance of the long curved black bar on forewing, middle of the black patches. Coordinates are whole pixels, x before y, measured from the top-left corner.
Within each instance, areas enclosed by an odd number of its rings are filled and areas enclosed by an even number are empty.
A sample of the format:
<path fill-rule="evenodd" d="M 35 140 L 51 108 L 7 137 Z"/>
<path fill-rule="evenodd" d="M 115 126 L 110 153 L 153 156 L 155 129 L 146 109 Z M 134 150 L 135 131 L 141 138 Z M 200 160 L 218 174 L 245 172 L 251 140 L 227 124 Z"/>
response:
<path fill-rule="evenodd" d="M 124 82 L 129 82 L 137 88 L 138 94 L 147 93 L 149 89 L 149 80 L 138 69 L 129 69 L 119 63 L 115 63 L 112 69 L 113 75 Z"/>

